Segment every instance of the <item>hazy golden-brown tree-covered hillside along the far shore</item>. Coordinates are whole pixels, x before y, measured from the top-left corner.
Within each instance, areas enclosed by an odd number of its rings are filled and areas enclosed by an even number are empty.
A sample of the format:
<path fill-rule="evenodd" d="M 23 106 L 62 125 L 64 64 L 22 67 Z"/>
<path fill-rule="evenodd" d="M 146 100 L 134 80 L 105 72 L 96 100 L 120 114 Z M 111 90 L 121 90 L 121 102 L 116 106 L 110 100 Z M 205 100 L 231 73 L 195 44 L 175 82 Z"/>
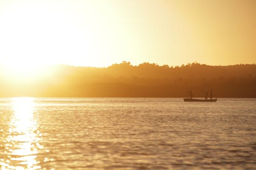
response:
<path fill-rule="evenodd" d="M 210 66 L 189 63 L 181 66 L 130 62 L 109 67 L 57 65 L 51 74 L 34 82 L 15 84 L 3 77 L 1 96 L 53 97 L 204 97 L 212 89 L 214 97 L 256 98 L 256 65 Z"/>

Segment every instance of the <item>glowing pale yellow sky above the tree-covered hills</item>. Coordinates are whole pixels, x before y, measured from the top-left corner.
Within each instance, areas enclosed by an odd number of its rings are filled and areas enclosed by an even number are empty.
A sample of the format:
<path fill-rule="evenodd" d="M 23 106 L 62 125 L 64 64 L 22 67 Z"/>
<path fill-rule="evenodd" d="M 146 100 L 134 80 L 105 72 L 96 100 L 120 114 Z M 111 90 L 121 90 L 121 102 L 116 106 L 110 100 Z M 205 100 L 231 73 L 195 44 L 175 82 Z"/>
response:
<path fill-rule="evenodd" d="M 254 0 L 0 0 L 0 64 L 256 63 Z"/>

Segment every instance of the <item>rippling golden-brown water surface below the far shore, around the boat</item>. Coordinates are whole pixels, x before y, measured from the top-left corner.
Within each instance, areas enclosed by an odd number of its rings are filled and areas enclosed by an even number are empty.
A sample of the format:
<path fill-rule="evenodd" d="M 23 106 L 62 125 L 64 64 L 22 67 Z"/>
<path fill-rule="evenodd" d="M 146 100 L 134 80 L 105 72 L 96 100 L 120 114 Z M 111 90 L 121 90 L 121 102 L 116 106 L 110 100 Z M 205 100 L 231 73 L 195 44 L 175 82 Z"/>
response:
<path fill-rule="evenodd" d="M 256 169 L 256 99 L 2 98 L 1 169 Z"/>

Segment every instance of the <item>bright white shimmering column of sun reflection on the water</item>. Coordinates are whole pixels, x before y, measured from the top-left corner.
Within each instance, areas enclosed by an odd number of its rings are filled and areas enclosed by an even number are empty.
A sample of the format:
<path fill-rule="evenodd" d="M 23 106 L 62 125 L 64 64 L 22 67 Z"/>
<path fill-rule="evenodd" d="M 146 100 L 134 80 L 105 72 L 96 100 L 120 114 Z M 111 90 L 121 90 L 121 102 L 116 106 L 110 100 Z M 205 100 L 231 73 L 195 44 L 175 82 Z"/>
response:
<path fill-rule="evenodd" d="M 8 158 L 2 169 L 40 169 L 36 160 L 40 134 L 34 119 L 33 98 L 13 98 L 13 115 L 9 124 L 9 135 L 5 149 Z"/>

